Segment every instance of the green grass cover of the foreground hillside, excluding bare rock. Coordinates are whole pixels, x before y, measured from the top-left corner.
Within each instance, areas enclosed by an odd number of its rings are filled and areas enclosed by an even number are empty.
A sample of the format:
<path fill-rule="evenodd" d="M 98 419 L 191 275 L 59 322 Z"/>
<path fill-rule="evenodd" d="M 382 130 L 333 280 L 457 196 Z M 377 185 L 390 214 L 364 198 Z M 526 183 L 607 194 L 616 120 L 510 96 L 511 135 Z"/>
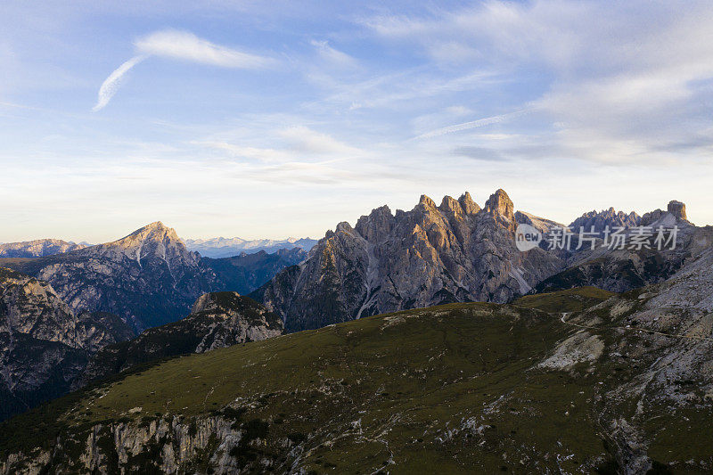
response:
<path fill-rule="evenodd" d="M 568 295 L 577 305 L 605 297 L 585 290 L 525 301 L 549 307 Z M 123 454 L 111 433 L 170 421 L 195 437 L 172 442 L 174 452 L 189 454 L 184 471 L 208 471 L 225 451 L 244 471 L 276 473 L 613 473 L 619 449 L 600 420 L 602 395 L 635 369 L 607 355 L 571 371 L 538 366 L 575 332 L 559 314 L 524 306 L 451 304 L 377 315 L 149 365 L 6 422 L 0 450 L 3 458 L 29 455 L 60 435 L 50 465 L 78 470 L 90 428 L 110 434 L 99 439 L 105 455 Z M 620 414 L 635 409 L 624 405 Z M 220 421 L 240 442 L 201 431 Z M 152 461 L 169 436 L 145 430 L 153 433 L 154 455 L 131 456 L 125 468 L 158 470 Z M 654 459 L 706 453 L 707 438 L 671 454 L 671 430 L 654 424 L 647 437 Z"/>

